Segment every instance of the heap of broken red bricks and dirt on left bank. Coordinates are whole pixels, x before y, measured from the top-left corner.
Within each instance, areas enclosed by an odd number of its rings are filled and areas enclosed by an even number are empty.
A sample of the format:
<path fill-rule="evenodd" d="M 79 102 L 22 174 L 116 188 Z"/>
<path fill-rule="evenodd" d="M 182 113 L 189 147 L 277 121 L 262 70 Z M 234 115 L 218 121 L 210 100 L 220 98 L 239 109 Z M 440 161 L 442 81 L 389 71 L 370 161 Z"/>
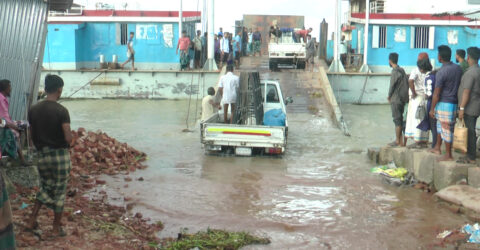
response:
<path fill-rule="evenodd" d="M 106 192 L 97 187 L 105 184 L 99 179 L 101 174 L 128 175 L 146 168 L 142 164 L 146 160 L 145 153 L 101 132 L 79 129 L 73 135 L 71 179 L 62 221 L 67 236 L 51 236 L 53 212 L 45 208 L 38 217 L 39 228 L 25 231 L 24 222 L 31 213 L 38 188 L 16 185 L 16 193 L 10 195 L 10 201 L 17 246 L 26 249 L 149 249 L 157 246 L 160 239 L 156 233 L 163 228 L 161 222 L 152 222 L 140 213 L 130 213 L 128 210 L 132 206 L 128 205 L 128 198 L 124 198 L 126 207 L 109 205 Z M 128 182 L 131 178 L 125 180 Z M 100 191 L 95 192 L 96 189 Z M 89 197 L 87 194 L 91 192 L 95 195 Z"/>

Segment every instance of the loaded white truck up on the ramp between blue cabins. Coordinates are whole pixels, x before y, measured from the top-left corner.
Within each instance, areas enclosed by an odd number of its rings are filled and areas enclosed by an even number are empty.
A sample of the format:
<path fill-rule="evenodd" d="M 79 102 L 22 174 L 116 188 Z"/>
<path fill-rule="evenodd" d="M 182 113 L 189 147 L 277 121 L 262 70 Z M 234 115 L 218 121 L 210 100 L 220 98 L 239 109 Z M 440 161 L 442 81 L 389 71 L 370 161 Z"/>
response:
<path fill-rule="evenodd" d="M 270 70 L 278 69 L 278 65 L 294 65 L 297 69 L 305 69 L 307 46 L 303 42 L 296 43 L 292 32 L 284 32 L 277 42 L 268 44 Z"/>

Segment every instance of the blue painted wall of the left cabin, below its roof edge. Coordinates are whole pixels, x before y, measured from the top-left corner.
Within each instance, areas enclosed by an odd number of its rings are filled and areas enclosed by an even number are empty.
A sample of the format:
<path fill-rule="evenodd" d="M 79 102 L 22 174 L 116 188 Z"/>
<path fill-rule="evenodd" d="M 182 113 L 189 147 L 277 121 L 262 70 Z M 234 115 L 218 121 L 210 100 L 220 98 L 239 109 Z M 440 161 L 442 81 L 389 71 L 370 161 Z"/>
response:
<path fill-rule="evenodd" d="M 164 24 L 173 25 L 172 46 L 164 38 Z M 148 39 L 134 38 L 135 62 L 177 63 L 178 23 L 129 23 L 128 33 L 136 32 L 137 25 L 148 25 Z M 107 62 L 113 55 L 118 61 L 127 59 L 127 46 L 117 44 L 116 23 L 49 24 L 44 64 L 99 62 L 105 55 Z"/>

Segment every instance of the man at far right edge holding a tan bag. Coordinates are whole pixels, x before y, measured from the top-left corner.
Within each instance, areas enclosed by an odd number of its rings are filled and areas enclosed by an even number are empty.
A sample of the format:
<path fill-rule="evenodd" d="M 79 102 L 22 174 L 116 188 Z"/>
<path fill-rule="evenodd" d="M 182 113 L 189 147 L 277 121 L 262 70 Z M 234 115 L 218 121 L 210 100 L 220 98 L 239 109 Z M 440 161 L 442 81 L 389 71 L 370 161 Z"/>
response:
<path fill-rule="evenodd" d="M 467 156 L 460 158 L 457 161 L 458 163 L 474 164 L 477 156 L 477 135 L 475 127 L 478 116 L 480 115 L 480 67 L 478 66 L 480 49 L 470 47 L 467 49 L 467 55 L 469 68 L 465 74 L 463 74 L 458 89 L 458 118 L 460 119 L 460 123 L 464 124 L 464 127 L 455 127 L 455 142 L 453 147 L 467 152 Z"/>

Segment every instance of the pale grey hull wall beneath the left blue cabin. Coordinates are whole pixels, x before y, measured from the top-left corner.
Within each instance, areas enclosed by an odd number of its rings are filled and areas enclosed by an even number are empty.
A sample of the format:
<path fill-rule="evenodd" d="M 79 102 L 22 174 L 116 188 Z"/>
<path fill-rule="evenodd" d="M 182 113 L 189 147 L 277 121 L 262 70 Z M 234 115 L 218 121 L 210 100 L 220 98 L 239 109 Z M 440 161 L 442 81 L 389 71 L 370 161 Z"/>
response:
<path fill-rule="evenodd" d="M 42 72 L 40 89 L 44 88 L 46 74 L 57 74 L 64 79 L 63 98 L 92 99 L 187 99 L 190 95 L 195 99 L 197 94 L 201 99 L 209 87 L 216 86 L 219 77 L 218 72 L 56 70 Z M 97 76 L 97 81 L 117 81 L 119 84 L 87 84 Z"/>

